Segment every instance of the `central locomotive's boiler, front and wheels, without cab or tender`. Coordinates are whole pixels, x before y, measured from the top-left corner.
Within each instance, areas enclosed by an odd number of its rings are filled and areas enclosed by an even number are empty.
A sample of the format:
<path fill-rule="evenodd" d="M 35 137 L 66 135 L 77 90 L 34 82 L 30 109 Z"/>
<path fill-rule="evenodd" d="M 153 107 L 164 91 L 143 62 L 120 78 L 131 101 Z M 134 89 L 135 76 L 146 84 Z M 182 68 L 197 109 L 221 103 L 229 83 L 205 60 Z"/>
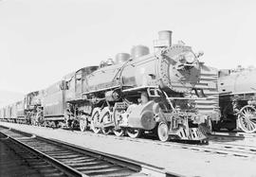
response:
<path fill-rule="evenodd" d="M 131 55 L 120 53 L 115 62 L 101 62 L 84 78 L 82 97 L 92 112 L 82 114 L 82 131 L 89 125 L 95 133 L 119 136 L 156 132 L 161 141 L 206 138 L 198 125 L 208 115 L 198 113 L 195 105 L 195 100 L 207 100 L 198 94 L 203 89 L 195 87 L 203 66 L 200 54 L 191 46 L 172 44 L 172 31 L 158 34 L 155 52 L 137 45 Z"/>

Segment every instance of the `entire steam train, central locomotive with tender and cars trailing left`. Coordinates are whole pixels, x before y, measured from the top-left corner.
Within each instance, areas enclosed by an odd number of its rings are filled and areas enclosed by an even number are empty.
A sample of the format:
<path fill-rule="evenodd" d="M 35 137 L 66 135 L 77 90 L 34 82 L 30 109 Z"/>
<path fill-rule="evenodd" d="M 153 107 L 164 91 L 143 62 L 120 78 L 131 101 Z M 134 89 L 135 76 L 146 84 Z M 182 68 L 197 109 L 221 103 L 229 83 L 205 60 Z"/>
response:
<path fill-rule="evenodd" d="M 217 71 L 199 62 L 202 53 L 191 46 L 172 44 L 172 31 L 159 31 L 154 49 L 137 45 L 131 55 L 117 54 L 115 62 L 83 67 L 1 109 L 1 118 L 134 138 L 153 133 L 161 141 L 205 141 L 211 121 L 220 117 Z M 23 115 L 11 115 L 14 107 Z"/>

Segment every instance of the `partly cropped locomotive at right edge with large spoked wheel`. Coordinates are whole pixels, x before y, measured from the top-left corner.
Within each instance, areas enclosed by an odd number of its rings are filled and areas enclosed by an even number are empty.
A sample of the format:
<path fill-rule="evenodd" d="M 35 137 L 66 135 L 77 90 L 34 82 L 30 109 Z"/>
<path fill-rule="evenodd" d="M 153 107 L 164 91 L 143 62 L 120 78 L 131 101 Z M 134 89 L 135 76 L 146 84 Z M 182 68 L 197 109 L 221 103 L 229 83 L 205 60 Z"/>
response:
<path fill-rule="evenodd" d="M 256 68 L 220 70 L 221 121 L 216 129 L 256 132 Z"/>

